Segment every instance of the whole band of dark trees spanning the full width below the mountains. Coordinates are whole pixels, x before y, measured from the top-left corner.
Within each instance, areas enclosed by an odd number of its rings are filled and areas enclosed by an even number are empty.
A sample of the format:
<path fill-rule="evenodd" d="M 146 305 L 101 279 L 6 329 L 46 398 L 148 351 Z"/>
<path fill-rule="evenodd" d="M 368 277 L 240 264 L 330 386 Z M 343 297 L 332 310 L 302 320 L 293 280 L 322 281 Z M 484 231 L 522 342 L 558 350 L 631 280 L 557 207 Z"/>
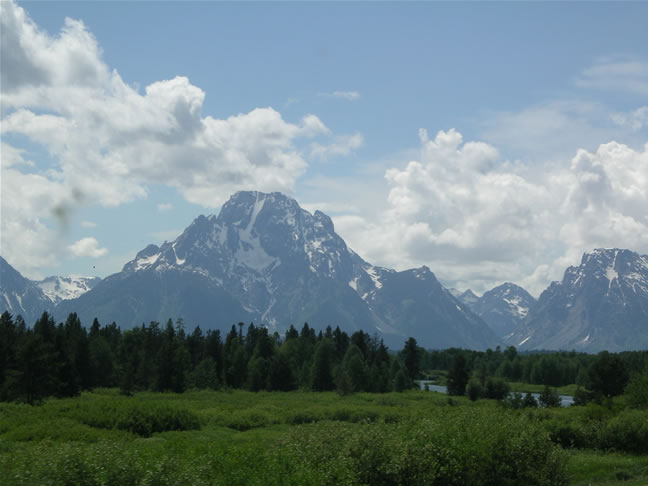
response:
<path fill-rule="evenodd" d="M 129 395 L 153 390 L 181 393 L 188 388 L 250 391 L 331 391 L 386 393 L 417 386 L 432 370 L 447 372 L 448 391 L 463 395 L 468 381 L 482 396 L 503 398 L 503 382 L 559 387 L 590 387 L 592 366 L 613 358 L 625 381 L 648 363 L 648 351 L 599 355 L 460 348 L 425 350 L 413 337 L 399 351 L 382 339 L 339 326 L 316 331 L 308 323 L 291 325 L 282 336 L 268 328 L 239 322 L 223 338 L 220 330 L 186 331 L 182 318 L 157 321 L 122 331 L 115 323 L 89 328 L 76 313 L 56 324 L 43 312 L 28 327 L 20 315 L 0 315 L 0 401 L 37 403 L 49 396 L 75 396 L 97 387 L 119 387 Z M 612 356 L 610 358 L 609 356 Z M 617 363 L 618 362 L 618 363 Z M 432 377 L 434 378 L 434 377 Z M 491 396 L 492 395 L 492 396 Z"/>

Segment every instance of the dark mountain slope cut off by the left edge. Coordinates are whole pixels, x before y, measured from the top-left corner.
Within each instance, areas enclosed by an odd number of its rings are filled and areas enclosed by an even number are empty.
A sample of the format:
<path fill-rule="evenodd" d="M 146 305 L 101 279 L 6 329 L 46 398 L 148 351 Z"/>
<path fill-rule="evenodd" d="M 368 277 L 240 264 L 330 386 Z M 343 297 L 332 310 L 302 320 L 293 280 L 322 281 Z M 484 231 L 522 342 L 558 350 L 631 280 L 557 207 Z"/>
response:
<path fill-rule="evenodd" d="M 21 315 L 27 325 L 33 324 L 43 311 L 52 309 L 52 301 L 31 280 L 23 277 L 0 257 L 0 313 Z"/>

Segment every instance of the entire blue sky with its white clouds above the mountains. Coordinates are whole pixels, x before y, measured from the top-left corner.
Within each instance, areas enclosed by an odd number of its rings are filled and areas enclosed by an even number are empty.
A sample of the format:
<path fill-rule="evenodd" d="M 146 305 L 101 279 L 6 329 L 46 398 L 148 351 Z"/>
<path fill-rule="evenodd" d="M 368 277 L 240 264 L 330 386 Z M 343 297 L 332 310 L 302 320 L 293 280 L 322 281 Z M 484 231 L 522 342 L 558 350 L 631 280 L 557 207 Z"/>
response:
<path fill-rule="evenodd" d="M 239 189 L 287 192 L 372 263 L 478 292 L 537 294 L 598 246 L 648 253 L 647 3 L 1 15 L 0 254 L 30 277 L 119 271 Z"/>

